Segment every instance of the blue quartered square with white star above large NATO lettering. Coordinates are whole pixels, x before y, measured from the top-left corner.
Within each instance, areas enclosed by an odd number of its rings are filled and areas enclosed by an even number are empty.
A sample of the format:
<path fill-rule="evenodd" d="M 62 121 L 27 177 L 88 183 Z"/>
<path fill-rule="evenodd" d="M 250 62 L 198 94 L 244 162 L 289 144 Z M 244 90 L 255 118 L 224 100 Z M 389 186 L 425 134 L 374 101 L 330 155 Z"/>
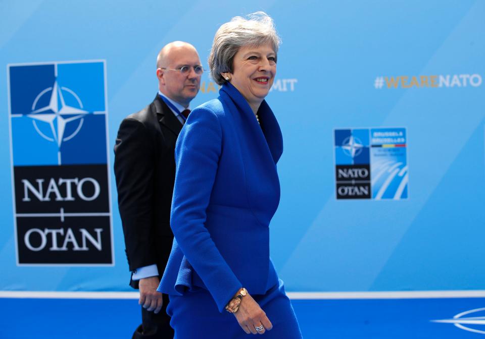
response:
<path fill-rule="evenodd" d="M 9 65 L 15 166 L 107 163 L 104 62 Z"/>

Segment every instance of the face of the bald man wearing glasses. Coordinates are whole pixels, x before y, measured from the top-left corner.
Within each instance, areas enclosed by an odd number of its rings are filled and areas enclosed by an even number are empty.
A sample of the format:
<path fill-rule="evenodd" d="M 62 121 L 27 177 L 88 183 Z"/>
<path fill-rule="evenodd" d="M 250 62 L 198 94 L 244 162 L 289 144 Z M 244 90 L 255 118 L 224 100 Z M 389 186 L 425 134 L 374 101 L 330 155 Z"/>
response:
<path fill-rule="evenodd" d="M 157 69 L 160 91 L 170 99 L 188 106 L 190 100 L 199 92 L 202 74 L 196 74 L 193 67 L 200 66 L 201 60 L 197 51 L 190 45 L 174 46 L 162 60 L 161 68 Z M 192 66 L 182 74 L 182 66 Z"/>

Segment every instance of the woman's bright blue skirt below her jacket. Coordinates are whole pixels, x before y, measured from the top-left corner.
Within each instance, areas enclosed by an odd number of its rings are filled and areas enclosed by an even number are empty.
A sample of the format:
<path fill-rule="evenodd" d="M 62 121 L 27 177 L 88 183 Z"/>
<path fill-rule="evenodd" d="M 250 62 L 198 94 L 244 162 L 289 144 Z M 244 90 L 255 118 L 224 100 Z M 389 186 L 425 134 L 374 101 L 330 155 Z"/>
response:
<path fill-rule="evenodd" d="M 284 293 L 282 280 L 265 295 L 251 296 L 273 325 L 273 329 L 263 334 L 264 338 L 302 338 L 292 304 Z M 172 317 L 170 326 L 175 330 L 174 339 L 254 338 L 254 334 L 246 334 L 233 314 L 225 311 L 220 313 L 206 290 L 186 292 L 182 296 L 171 295 L 169 298 L 167 314 Z"/>

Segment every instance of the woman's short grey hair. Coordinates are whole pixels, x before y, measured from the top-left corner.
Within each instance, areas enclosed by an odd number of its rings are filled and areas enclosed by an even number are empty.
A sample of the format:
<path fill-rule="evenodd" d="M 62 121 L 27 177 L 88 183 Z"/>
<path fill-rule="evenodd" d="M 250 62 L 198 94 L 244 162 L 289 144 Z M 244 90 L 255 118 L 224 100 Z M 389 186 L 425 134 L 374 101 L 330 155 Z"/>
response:
<path fill-rule="evenodd" d="M 212 79 L 222 85 L 226 80 L 221 73 L 233 71 L 234 55 L 241 46 L 259 46 L 270 43 L 278 52 L 281 39 L 276 33 L 273 19 L 264 12 L 248 15 L 248 19 L 234 17 L 223 24 L 214 36 L 209 55 Z"/>

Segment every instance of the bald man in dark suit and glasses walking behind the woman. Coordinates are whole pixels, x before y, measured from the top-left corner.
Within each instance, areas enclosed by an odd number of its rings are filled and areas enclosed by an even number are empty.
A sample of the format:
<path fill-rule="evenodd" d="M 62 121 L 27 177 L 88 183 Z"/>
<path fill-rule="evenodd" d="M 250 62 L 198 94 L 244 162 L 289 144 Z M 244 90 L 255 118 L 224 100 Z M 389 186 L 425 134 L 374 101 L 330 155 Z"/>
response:
<path fill-rule="evenodd" d="M 198 93 L 203 68 L 192 45 L 174 41 L 157 57 L 155 100 L 120 125 L 115 176 L 130 286 L 139 289 L 142 323 L 133 338 L 173 338 L 168 297 L 157 292 L 172 248 L 170 207 L 175 180 L 174 149 Z"/>

